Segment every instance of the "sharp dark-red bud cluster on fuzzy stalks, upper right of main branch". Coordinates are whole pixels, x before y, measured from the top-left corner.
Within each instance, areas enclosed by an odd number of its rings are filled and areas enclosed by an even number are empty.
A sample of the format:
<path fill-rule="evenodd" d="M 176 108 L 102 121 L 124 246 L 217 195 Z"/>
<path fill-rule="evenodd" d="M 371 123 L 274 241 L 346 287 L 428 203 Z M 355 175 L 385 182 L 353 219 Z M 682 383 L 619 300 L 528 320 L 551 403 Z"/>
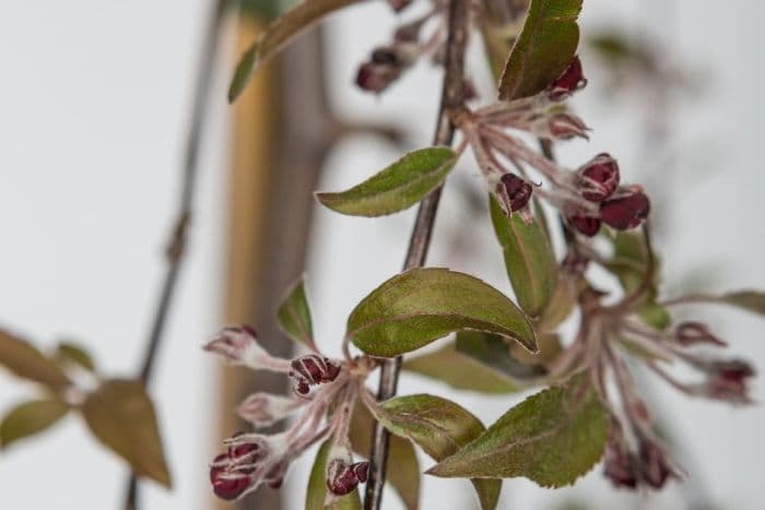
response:
<path fill-rule="evenodd" d="M 598 154 L 572 171 L 511 133 L 513 130 L 525 131 L 554 140 L 587 138 L 585 122 L 568 112 L 564 104 L 586 84 L 581 62 L 576 57 L 541 93 L 475 111 L 464 108 L 454 114 L 454 120 L 472 146 L 490 190 L 507 215 L 518 213 L 530 222 L 532 214 L 528 204 L 532 193 L 537 193 L 557 207 L 576 232 L 591 237 L 603 223 L 616 229 L 639 226 L 650 211 L 642 187 L 620 186 L 619 164 L 609 154 Z M 515 171 L 505 162 L 511 164 Z M 527 168 L 543 176 L 550 188 L 534 186 L 527 177 Z"/>

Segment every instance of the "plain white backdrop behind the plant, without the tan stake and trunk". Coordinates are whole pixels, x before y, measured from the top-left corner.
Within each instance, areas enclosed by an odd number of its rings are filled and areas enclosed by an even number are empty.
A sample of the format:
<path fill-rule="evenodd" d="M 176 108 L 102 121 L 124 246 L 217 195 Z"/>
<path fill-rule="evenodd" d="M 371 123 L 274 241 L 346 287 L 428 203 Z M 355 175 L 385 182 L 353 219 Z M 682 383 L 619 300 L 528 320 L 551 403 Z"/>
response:
<path fill-rule="evenodd" d="M 139 366 L 149 329 L 162 249 L 175 206 L 199 34 L 201 0 L 43 0 L 0 2 L 0 323 L 42 346 L 61 336 L 93 346 L 105 371 L 130 375 Z M 625 180 L 649 183 L 661 197 L 655 215 L 667 225 L 660 251 L 668 274 L 719 289 L 765 287 L 762 199 L 763 76 L 757 47 L 765 10 L 754 0 L 588 0 L 584 31 L 617 21 L 631 34 L 647 34 L 670 62 L 691 67 L 703 94 L 669 112 L 675 165 L 635 141 L 642 120 L 664 112 L 636 95 L 597 99 L 598 73 L 577 99 L 595 128 L 589 143 L 575 142 L 562 158 L 575 166 L 609 151 L 620 157 Z M 437 103 L 438 74 L 423 64 L 381 99 L 351 85 L 356 64 L 387 39 L 395 16 L 381 3 L 354 8 L 329 24 L 332 99 L 349 118 L 410 123 L 426 144 Z M 586 69 L 590 69 L 585 61 Z M 672 64 L 672 68 L 675 66 Z M 153 389 L 166 431 L 175 490 L 146 489 L 148 509 L 197 509 L 208 501 L 207 470 L 215 416 L 215 364 L 199 345 L 217 327 L 225 197 L 225 70 L 209 126 L 203 178 L 191 254 Z M 328 161 L 323 189 L 342 189 L 397 157 L 373 139 L 342 143 Z M 474 179 L 466 158 L 458 179 Z M 658 168 L 658 169 L 657 169 Z M 650 170 L 652 174 L 649 175 Z M 467 225 L 454 186 L 447 189 L 431 263 L 447 262 L 509 292 L 486 224 Z M 400 266 L 413 212 L 375 221 L 317 209 L 308 268 L 316 330 L 331 352 L 348 311 Z M 489 251 L 475 253 L 486 241 Z M 669 282 L 673 283 L 672 281 Z M 676 285 L 675 285 L 676 288 Z M 703 310 L 735 353 L 762 365 L 762 320 L 731 311 Z M 765 507 L 761 406 L 730 410 L 688 402 L 650 384 L 656 411 L 681 438 L 690 482 L 706 502 L 754 510 Z M 755 381 L 755 399 L 762 384 Z M 0 408 L 33 391 L 0 373 Z M 414 377 L 401 392 L 446 389 Z M 455 396 L 486 422 L 510 404 L 506 398 Z M 425 465 L 429 461 L 423 458 Z M 305 463 L 304 463 L 305 464 Z M 302 508 L 307 475 L 301 464 L 289 478 L 289 508 Z M 126 470 L 95 446 L 70 417 L 55 430 L 0 453 L 0 508 L 118 508 Z M 601 481 L 599 469 L 569 490 L 543 490 L 526 481 L 505 483 L 503 508 L 557 508 L 576 498 L 589 508 L 682 508 L 679 485 L 658 500 L 627 497 Z M 704 490 L 699 491 L 699 487 Z M 471 508 L 468 484 L 427 478 L 426 508 Z M 461 499 L 460 499 L 461 498 Z M 401 508 L 395 497 L 387 508 Z"/>

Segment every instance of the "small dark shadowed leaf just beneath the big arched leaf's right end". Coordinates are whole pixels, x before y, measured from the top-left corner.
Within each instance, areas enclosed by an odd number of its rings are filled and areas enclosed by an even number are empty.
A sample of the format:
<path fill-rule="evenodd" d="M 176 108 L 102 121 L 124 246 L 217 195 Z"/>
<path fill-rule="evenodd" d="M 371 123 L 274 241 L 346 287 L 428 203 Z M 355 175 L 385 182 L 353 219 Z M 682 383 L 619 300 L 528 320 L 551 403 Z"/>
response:
<path fill-rule="evenodd" d="M 548 375 L 543 367 L 529 366 L 519 363 L 510 354 L 510 346 L 501 337 L 480 331 L 463 331 L 457 333 L 455 342 L 457 351 L 470 356 L 482 365 L 504 373 L 525 387 L 529 381 L 540 379 Z"/>

